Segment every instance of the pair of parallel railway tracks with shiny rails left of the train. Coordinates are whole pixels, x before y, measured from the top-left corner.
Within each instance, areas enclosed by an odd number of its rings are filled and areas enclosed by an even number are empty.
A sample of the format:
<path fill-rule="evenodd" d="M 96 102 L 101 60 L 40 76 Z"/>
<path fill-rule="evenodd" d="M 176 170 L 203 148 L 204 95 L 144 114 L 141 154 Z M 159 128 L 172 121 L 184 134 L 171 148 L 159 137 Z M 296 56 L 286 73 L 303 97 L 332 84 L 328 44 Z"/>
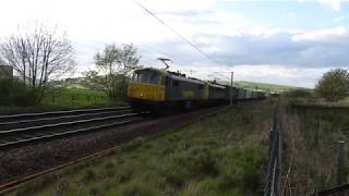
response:
<path fill-rule="evenodd" d="M 130 107 L 0 117 L 0 149 L 140 121 Z"/>

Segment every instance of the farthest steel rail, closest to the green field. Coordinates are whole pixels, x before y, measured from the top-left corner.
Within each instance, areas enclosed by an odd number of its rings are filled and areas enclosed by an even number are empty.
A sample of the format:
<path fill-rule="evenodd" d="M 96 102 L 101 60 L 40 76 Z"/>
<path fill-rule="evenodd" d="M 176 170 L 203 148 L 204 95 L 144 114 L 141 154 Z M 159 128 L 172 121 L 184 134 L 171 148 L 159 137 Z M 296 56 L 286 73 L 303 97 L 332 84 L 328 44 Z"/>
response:
<path fill-rule="evenodd" d="M 10 115 L 0 115 L 0 121 L 7 120 L 7 119 L 15 119 L 15 118 L 40 117 L 40 115 L 51 115 L 51 114 L 62 115 L 68 113 L 95 112 L 95 111 L 122 110 L 122 109 L 131 109 L 131 107 L 118 107 L 118 108 L 110 107 L 110 108 L 96 108 L 96 109 L 60 110 L 60 111 L 49 111 L 49 112 L 10 114 Z"/>

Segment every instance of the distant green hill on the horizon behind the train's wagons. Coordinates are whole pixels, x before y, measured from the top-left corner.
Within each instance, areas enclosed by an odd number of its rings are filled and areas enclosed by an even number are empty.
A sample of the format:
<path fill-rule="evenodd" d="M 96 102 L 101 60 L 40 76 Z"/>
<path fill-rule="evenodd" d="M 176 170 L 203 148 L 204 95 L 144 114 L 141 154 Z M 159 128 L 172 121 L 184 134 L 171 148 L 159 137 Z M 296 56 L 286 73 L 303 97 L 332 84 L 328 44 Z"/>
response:
<path fill-rule="evenodd" d="M 226 81 L 219 81 L 218 83 L 230 85 L 230 82 L 226 82 Z M 253 82 L 245 82 L 245 81 L 237 81 L 233 83 L 233 86 L 243 87 L 248 89 L 274 91 L 274 93 L 288 91 L 292 89 L 306 89 L 306 88 L 301 88 L 296 86 L 285 86 L 285 85 L 277 85 L 277 84 L 267 84 L 267 83 L 253 83 Z"/>

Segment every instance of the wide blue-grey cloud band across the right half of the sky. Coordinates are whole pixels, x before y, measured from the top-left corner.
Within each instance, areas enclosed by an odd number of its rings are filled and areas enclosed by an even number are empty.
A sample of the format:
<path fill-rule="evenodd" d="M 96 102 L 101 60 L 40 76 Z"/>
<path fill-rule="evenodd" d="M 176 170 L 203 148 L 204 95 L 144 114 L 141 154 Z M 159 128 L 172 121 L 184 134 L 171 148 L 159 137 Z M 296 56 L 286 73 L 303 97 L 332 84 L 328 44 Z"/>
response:
<path fill-rule="evenodd" d="M 330 32 L 330 30 L 329 30 Z M 336 32 L 336 30 L 335 30 Z M 335 34 L 337 35 L 337 34 Z M 277 33 L 269 36 L 242 34 L 197 34 L 193 42 L 220 64 L 284 64 L 306 68 L 349 64 L 349 34 L 328 35 L 326 30 Z M 182 41 L 153 44 L 174 62 L 210 62 Z M 170 48 L 168 46 L 171 46 Z M 171 58 L 170 57 L 170 58 Z"/>

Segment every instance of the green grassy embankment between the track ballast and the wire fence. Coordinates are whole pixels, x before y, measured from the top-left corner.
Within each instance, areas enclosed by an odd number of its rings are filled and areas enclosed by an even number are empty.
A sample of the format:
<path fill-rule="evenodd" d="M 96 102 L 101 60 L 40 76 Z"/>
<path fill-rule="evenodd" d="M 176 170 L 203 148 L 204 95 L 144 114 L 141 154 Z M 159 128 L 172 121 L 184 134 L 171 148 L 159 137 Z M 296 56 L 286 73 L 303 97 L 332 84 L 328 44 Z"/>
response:
<path fill-rule="evenodd" d="M 242 103 L 46 175 L 19 195 L 262 195 L 272 102 Z"/>

